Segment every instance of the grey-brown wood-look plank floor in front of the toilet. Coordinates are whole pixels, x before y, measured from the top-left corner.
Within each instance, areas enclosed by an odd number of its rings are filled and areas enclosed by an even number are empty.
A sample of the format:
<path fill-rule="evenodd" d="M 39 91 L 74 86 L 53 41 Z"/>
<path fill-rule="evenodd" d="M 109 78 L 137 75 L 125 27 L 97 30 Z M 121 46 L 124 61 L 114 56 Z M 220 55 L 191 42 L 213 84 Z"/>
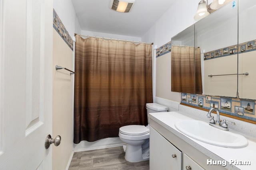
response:
<path fill-rule="evenodd" d="M 123 147 L 75 152 L 68 170 L 149 170 L 149 160 L 128 162 Z"/>

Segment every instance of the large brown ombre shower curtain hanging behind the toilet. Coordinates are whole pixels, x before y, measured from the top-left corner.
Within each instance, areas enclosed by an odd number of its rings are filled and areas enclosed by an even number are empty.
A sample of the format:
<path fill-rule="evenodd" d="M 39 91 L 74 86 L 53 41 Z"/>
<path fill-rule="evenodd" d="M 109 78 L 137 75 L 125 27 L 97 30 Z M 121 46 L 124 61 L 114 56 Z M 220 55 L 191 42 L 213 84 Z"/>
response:
<path fill-rule="evenodd" d="M 152 103 L 152 45 L 76 35 L 74 143 L 118 137 L 146 125 Z"/>

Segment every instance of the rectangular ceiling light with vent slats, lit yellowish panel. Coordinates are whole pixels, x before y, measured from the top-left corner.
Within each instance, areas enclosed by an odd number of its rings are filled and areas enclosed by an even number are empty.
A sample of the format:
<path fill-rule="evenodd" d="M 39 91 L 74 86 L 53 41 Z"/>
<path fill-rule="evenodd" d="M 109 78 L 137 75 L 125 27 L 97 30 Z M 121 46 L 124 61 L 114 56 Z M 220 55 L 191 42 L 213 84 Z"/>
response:
<path fill-rule="evenodd" d="M 111 0 L 110 9 L 117 12 L 129 12 L 132 9 L 135 0 Z"/>

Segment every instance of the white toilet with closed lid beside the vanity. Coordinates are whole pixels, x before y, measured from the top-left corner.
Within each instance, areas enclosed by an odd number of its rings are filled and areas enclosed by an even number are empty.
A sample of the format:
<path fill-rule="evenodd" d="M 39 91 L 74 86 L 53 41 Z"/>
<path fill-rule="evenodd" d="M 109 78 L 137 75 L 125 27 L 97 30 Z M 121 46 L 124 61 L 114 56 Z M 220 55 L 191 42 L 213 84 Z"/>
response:
<path fill-rule="evenodd" d="M 165 112 L 168 107 L 156 103 L 146 104 L 147 113 Z M 149 118 L 148 125 L 127 125 L 119 128 L 119 138 L 126 143 L 124 158 L 129 162 L 149 159 Z"/>

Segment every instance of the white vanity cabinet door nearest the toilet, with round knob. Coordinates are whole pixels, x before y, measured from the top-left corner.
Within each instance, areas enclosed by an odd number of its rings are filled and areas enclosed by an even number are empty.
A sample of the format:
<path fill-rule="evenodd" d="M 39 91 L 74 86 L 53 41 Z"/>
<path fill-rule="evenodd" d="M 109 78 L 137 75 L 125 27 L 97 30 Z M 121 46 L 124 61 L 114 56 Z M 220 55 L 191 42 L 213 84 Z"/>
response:
<path fill-rule="evenodd" d="M 182 152 L 150 127 L 150 170 L 181 170 Z"/>

